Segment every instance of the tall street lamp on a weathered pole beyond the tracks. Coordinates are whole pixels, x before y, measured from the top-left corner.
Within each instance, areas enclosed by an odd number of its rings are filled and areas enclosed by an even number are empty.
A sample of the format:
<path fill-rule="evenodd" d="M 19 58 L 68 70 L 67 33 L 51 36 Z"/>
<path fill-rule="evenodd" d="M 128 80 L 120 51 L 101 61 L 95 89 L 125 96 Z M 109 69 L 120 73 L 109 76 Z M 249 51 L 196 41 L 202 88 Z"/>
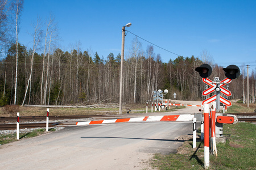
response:
<path fill-rule="evenodd" d="M 123 82 L 123 56 L 125 54 L 125 27 L 130 27 L 131 23 L 122 27 L 122 51 L 121 51 L 121 66 L 120 66 L 120 94 L 119 94 L 119 114 L 122 114 L 122 82 Z"/>

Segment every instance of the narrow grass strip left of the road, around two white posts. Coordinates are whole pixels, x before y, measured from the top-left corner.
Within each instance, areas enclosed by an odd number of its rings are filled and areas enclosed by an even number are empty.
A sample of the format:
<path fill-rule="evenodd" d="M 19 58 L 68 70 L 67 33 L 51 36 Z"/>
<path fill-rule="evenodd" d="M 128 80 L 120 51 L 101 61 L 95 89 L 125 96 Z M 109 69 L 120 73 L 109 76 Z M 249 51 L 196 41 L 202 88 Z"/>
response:
<path fill-rule="evenodd" d="M 49 129 L 49 131 L 55 131 L 55 129 L 51 128 L 51 129 Z M 36 137 L 36 136 L 44 134 L 44 133 L 46 133 L 46 129 L 36 129 L 36 130 L 30 131 L 28 133 L 20 133 L 19 139 L 32 138 L 32 137 Z M 16 139 L 16 133 L 6 134 L 6 135 L 0 134 L 0 145 L 4 145 L 4 144 L 15 142 L 15 141 L 18 141 Z"/>

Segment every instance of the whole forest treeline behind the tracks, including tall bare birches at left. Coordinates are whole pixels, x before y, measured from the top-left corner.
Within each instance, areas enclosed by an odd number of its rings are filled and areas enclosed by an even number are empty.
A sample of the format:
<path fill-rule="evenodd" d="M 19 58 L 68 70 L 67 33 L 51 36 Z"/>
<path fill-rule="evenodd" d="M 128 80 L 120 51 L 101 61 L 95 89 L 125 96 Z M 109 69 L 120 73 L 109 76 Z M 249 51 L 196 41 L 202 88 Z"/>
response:
<path fill-rule="evenodd" d="M 119 102 L 120 54 L 100 57 L 97 52 L 82 50 L 80 42 L 68 51 L 61 50 L 57 23 L 52 15 L 44 24 L 39 17 L 32 24 L 32 46 L 28 48 L 18 40 L 22 7 L 23 0 L 0 0 L 1 106 Z M 222 67 L 213 65 L 211 58 L 204 54 L 201 59 L 177 56 L 166 63 L 160 54 L 155 54 L 154 46 L 143 49 L 135 37 L 123 63 L 123 103 L 152 100 L 153 91 L 158 89 L 169 91 L 164 99 L 173 99 L 175 92 L 177 100 L 204 100 L 201 94 L 208 87 L 195 68 L 209 63 L 213 69 L 210 79 L 225 78 Z M 229 99 L 245 102 L 247 76 L 245 66 L 240 69 L 241 76 L 229 84 L 232 92 Z M 249 94 L 250 102 L 254 103 L 254 72 L 249 76 Z"/>

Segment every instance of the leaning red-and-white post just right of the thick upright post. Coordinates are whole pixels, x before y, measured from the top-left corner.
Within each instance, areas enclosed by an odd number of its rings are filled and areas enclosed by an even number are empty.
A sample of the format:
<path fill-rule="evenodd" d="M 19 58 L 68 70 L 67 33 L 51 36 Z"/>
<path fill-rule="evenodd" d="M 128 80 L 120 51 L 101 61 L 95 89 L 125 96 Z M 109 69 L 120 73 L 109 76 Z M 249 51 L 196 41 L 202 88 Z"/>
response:
<path fill-rule="evenodd" d="M 213 154 L 216 154 L 217 156 L 217 146 L 216 146 L 216 125 L 215 125 L 215 121 L 216 121 L 216 101 L 213 101 L 212 103 L 212 109 L 211 109 L 211 115 L 210 115 L 210 129 L 211 129 L 211 138 L 212 138 L 212 146 L 213 146 Z"/>

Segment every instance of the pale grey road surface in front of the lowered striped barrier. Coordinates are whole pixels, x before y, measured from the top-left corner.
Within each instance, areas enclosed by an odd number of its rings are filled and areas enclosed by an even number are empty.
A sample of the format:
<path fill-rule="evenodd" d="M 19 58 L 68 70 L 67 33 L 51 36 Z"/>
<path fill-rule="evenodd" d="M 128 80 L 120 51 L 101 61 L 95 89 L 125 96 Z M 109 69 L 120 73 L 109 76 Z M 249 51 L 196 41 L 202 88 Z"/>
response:
<path fill-rule="evenodd" d="M 143 169 L 155 153 L 175 152 L 192 122 L 68 127 L 0 146 L 0 169 Z"/>

